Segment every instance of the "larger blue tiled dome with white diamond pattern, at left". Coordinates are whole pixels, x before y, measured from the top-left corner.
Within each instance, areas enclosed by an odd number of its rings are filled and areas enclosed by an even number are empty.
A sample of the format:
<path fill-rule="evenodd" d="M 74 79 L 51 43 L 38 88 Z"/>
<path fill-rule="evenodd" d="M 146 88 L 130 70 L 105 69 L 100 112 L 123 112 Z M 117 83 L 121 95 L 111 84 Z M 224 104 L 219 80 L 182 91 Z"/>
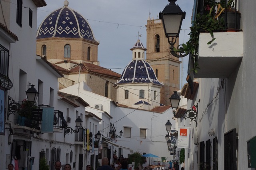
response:
<path fill-rule="evenodd" d="M 44 19 L 36 36 L 37 39 L 58 37 L 96 41 L 86 19 L 69 8 L 67 0 L 62 8 L 55 10 Z"/>

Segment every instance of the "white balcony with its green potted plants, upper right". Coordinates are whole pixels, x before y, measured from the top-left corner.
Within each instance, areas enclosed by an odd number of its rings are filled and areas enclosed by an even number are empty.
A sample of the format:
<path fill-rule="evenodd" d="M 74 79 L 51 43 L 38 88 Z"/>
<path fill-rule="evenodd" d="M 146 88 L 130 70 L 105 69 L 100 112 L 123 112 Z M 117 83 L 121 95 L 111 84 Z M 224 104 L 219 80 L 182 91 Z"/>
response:
<path fill-rule="evenodd" d="M 196 14 L 185 50 L 190 52 L 195 78 L 228 78 L 243 57 L 241 14 L 236 0 L 204 0 Z M 190 67 L 192 67 L 190 66 Z"/>

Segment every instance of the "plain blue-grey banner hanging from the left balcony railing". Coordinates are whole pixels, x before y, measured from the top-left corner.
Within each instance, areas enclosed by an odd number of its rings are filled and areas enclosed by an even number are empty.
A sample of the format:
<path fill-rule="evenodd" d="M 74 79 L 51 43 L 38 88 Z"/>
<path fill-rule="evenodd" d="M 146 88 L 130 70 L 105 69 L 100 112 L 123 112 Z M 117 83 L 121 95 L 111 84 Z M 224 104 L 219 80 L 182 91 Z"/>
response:
<path fill-rule="evenodd" d="M 41 133 L 53 133 L 54 107 L 43 107 Z"/>

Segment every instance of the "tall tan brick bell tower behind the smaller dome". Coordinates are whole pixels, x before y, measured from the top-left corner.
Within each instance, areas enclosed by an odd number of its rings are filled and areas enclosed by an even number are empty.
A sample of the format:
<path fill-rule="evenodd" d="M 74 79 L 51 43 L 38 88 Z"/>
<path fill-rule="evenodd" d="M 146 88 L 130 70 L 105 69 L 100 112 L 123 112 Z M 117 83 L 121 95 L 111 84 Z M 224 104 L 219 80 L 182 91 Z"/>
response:
<path fill-rule="evenodd" d="M 170 96 L 180 87 L 180 61 L 170 54 L 170 44 L 165 38 L 160 19 L 148 19 L 146 61 L 150 63 L 159 80 L 164 84 L 160 91 L 160 103 L 170 105 Z M 179 41 L 176 41 L 176 47 Z"/>

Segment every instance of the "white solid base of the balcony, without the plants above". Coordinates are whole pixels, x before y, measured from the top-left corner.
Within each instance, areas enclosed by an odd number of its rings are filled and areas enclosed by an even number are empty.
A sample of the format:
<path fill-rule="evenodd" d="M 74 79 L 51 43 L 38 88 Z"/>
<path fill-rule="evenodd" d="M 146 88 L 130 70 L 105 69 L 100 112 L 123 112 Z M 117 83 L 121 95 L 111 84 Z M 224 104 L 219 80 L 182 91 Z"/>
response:
<path fill-rule="evenodd" d="M 198 66 L 195 78 L 228 78 L 243 57 L 243 32 L 215 32 L 213 44 L 209 33 L 200 33 Z"/>

